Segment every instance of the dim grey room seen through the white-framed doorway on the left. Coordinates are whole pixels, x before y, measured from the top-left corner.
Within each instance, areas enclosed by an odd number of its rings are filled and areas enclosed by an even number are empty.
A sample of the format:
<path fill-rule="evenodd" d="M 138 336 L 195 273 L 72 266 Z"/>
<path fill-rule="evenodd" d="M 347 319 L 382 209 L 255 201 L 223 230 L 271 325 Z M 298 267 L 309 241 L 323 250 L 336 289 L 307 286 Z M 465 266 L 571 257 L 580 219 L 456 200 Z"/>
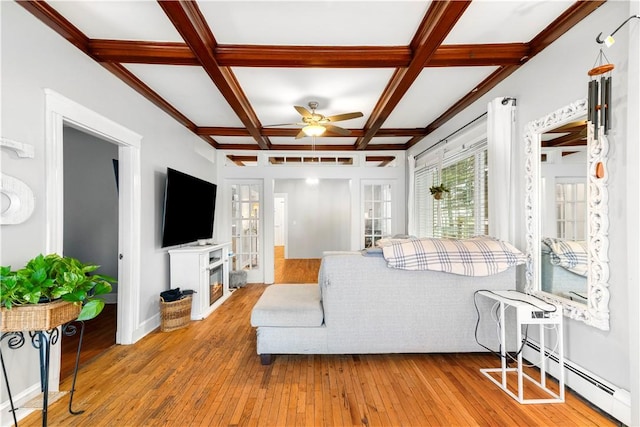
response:
<path fill-rule="evenodd" d="M 81 130 L 63 127 L 63 253 L 99 265 L 98 274 L 118 277 L 118 146 Z M 80 363 L 116 343 L 117 292 L 103 312 L 85 322 Z M 62 336 L 60 378 L 73 373 L 79 334 Z"/>

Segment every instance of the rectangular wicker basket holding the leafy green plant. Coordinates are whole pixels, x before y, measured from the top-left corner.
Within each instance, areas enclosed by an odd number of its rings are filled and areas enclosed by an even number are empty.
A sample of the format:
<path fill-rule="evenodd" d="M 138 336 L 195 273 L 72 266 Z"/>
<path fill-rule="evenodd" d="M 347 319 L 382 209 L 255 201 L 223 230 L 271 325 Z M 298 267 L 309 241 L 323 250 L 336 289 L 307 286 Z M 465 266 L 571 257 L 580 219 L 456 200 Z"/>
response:
<path fill-rule="evenodd" d="M 57 300 L 0 309 L 0 332 L 48 331 L 78 318 L 82 306 Z"/>

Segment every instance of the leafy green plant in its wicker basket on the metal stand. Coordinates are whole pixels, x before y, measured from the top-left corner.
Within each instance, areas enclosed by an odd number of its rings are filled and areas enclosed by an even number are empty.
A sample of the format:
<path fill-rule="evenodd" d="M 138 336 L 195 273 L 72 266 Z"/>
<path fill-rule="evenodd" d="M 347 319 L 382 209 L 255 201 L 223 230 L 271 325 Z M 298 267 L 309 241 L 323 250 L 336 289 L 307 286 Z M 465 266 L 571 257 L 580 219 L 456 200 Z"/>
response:
<path fill-rule="evenodd" d="M 0 267 L 0 331 L 50 330 L 93 319 L 104 308 L 99 296 L 116 282 L 89 274 L 99 267 L 58 254 L 40 254 L 17 271 Z"/>

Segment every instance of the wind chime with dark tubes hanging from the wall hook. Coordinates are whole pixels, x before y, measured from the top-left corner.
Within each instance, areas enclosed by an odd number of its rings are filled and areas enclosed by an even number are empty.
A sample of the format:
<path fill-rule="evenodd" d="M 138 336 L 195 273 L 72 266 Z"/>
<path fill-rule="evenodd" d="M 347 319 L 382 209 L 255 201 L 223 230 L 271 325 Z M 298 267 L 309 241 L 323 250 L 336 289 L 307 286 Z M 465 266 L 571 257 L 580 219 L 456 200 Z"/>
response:
<path fill-rule="evenodd" d="M 605 135 L 611 129 L 611 71 L 614 65 L 609 63 L 602 49 L 596 59 L 594 68 L 587 73 L 589 80 L 589 97 L 587 120 L 593 124 L 594 137 L 602 127 Z"/>

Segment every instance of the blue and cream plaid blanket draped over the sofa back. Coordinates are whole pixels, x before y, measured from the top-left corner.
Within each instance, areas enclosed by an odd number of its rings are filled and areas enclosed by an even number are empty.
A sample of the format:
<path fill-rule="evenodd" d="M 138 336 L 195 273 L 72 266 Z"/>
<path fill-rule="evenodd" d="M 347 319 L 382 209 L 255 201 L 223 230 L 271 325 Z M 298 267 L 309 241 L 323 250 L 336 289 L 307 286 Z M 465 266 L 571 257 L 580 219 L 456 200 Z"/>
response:
<path fill-rule="evenodd" d="M 470 239 L 410 239 L 382 248 L 390 268 L 435 270 L 463 276 L 490 276 L 523 264 L 525 255 L 488 236 Z"/>

